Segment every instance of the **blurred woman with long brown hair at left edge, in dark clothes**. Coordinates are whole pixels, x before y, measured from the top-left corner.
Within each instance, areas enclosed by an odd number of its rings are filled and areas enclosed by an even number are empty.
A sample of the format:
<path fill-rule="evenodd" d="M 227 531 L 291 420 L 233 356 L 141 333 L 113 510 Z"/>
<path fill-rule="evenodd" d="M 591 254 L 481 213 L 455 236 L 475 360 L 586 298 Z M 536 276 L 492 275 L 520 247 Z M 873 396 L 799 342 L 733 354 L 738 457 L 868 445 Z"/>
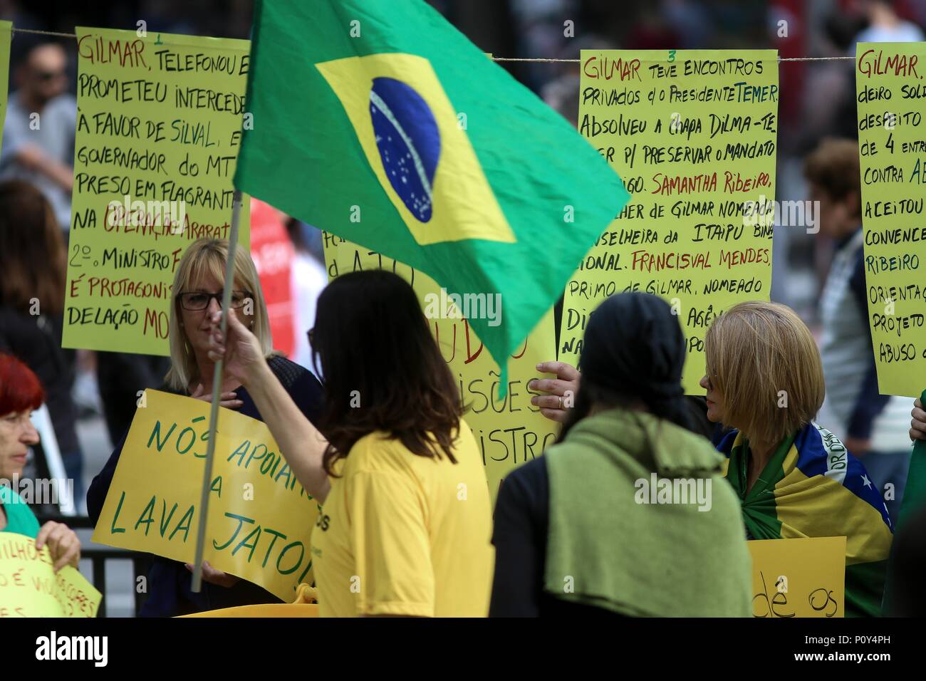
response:
<path fill-rule="evenodd" d="M 74 498 L 83 498 L 73 357 L 61 349 L 67 251 L 55 212 L 30 183 L 0 183 L 0 351 L 39 377 Z"/>

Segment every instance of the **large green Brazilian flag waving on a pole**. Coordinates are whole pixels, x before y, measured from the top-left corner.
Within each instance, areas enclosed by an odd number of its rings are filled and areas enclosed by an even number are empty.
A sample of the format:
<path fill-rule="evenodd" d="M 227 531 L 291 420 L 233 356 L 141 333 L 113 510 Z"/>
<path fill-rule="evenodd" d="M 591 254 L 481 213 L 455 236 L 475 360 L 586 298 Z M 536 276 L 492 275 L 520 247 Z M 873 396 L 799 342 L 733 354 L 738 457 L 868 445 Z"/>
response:
<path fill-rule="evenodd" d="M 629 198 L 420 0 L 258 0 L 247 110 L 235 186 L 448 295 L 500 295 L 469 322 L 503 372 Z"/>

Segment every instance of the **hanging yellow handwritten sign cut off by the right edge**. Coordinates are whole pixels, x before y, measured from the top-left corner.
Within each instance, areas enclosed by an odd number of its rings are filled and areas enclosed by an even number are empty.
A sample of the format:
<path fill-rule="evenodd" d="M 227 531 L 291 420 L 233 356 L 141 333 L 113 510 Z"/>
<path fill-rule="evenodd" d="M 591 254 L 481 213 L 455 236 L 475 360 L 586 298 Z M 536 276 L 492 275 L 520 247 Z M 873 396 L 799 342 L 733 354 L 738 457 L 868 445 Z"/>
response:
<path fill-rule="evenodd" d="M 858 43 L 858 145 L 869 324 L 883 395 L 919 397 L 926 372 L 926 45 Z"/>

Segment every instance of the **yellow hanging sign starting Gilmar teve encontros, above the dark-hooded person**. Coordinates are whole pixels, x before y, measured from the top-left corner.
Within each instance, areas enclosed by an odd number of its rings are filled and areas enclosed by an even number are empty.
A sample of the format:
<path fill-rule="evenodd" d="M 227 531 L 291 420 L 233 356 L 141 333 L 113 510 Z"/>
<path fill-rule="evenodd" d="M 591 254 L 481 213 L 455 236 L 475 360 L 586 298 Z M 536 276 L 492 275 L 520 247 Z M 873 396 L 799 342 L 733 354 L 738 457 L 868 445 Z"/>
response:
<path fill-rule="evenodd" d="M 579 132 L 632 199 L 566 286 L 558 359 L 577 363 L 607 296 L 657 294 L 687 339 L 685 391 L 703 394 L 710 322 L 769 298 L 777 53 L 582 50 L 581 67 Z"/>

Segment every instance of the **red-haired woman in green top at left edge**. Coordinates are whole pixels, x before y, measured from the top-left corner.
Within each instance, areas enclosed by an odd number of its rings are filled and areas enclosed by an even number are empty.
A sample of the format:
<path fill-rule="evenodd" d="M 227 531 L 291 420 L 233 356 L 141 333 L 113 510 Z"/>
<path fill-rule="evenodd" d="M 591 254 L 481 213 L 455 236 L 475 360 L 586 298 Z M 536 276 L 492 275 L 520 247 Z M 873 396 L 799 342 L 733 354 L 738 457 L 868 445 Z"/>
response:
<path fill-rule="evenodd" d="M 29 506 L 7 481 L 19 479 L 26 465 L 26 453 L 38 444 L 39 434 L 29 419 L 44 399 L 39 379 L 19 359 L 0 355 L 0 532 L 15 532 L 45 545 L 57 572 L 66 565 L 77 567 L 81 540 L 67 525 L 49 521 L 41 528 Z"/>

